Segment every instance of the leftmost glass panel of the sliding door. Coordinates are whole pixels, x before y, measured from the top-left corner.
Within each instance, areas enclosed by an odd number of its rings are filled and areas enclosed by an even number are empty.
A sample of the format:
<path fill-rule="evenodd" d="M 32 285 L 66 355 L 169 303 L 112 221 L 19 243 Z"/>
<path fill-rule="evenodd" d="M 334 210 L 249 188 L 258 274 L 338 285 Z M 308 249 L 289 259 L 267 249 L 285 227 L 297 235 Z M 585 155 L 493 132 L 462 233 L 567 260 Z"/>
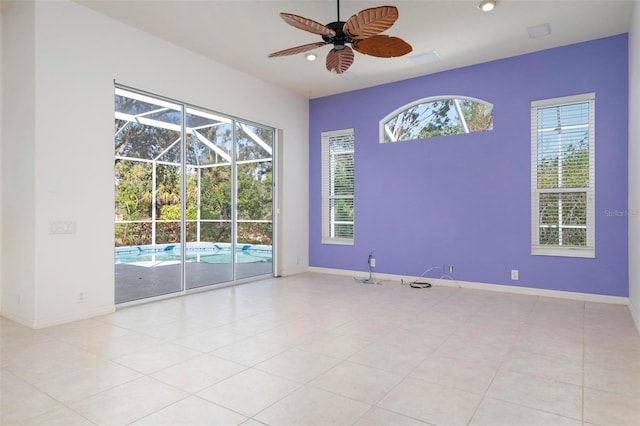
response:
<path fill-rule="evenodd" d="M 115 96 L 115 302 L 182 290 L 182 107 Z"/>

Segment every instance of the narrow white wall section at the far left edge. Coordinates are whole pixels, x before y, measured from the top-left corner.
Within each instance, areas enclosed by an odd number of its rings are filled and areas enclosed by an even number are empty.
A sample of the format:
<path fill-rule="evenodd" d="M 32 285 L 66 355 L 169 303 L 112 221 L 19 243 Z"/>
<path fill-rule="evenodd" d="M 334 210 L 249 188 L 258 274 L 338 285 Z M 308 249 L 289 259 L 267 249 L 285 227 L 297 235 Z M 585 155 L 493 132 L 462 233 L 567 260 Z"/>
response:
<path fill-rule="evenodd" d="M 4 3 L 2 12 L 2 314 L 30 322 L 36 301 L 35 8 L 17 5 Z"/>

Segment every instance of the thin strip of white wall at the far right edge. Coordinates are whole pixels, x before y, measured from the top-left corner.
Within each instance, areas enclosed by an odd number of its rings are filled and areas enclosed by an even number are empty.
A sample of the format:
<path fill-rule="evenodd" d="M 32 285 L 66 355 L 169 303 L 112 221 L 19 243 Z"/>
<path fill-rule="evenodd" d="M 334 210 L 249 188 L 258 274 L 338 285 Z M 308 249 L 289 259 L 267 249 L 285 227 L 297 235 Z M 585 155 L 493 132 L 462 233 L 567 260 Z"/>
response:
<path fill-rule="evenodd" d="M 640 331 L 640 2 L 629 31 L 629 308 Z"/>

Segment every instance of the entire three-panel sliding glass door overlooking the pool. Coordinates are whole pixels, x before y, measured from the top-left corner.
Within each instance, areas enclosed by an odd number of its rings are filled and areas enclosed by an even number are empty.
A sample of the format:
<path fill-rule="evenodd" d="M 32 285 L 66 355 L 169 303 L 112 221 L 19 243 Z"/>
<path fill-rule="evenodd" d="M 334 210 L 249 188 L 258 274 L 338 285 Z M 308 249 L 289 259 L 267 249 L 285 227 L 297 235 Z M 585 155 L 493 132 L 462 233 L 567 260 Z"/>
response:
<path fill-rule="evenodd" d="M 116 303 L 273 273 L 274 135 L 116 88 Z"/>

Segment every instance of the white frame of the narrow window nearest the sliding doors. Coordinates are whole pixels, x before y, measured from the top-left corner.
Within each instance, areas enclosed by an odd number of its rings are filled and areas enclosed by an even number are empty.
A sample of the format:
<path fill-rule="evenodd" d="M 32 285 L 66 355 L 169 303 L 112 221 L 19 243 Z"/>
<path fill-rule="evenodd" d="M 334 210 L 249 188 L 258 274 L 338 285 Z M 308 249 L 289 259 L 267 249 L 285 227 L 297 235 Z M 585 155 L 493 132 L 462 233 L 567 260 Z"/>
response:
<path fill-rule="evenodd" d="M 353 245 L 354 238 L 336 237 L 332 224 L 335 224 L 334 212 L 331 210 L 331 201 L 335 199 L 351 199 L 354 200 L 355 208 L 355 194 L 350 195 L 332 195 L 330 193 L 330 179 L 331 179 L 331 152 L 330 152 L 330 140 L 333 137 L 351 137 L 354 141 L 355 150 L 355 136 L 353 129 L 334 130 L 330 132 L 323 132 L 322 139 L 322 244 L 341 244 L 341 245 Z M 355 179 L 355 164 L 354 164 L 354 179 Z M 355 192 L 355 190 L 354 190 Z M 355 223 L 351 222 L 354 227 L 355 236 Z"/>

